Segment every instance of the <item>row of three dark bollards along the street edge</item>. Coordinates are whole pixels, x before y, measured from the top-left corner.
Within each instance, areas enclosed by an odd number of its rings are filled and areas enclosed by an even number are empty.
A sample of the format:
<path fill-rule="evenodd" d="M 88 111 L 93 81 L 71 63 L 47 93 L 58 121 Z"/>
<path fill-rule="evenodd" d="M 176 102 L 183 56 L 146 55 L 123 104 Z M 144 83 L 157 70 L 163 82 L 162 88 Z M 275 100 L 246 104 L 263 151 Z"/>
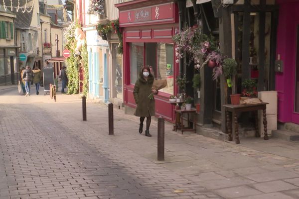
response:
<path fill-rule="evenodd" d="M 86 121 L 86 97 L 82 97 L 82 115 L 83 121 Z M 113 103 L 108 104 L 108 126 L 109 135 L 114 135 L 114 116 L 113 116 Z M 165 122 L 163 117 L 158 118 L 158 136 L 157 136 L 157 160 L 164 161 L 164 129 Z"/>

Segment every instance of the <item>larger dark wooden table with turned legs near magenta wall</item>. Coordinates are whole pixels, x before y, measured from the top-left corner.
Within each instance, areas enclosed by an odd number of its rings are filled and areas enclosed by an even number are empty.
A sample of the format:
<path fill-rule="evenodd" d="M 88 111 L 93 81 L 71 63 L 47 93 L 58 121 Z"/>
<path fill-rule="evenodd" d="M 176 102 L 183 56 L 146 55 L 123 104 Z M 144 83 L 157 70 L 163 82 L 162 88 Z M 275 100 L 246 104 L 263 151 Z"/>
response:
<path fill-rule="evenodd" d="M 259 121 L 258 121 L 258 110 L 263 110 L 263 124 L 264 124 L 264 140 L 268 140 L 268 133 L 267 133 L 267 117 L 266 117 L 266 105 L 267 102 L 262 102 L 259 104 L 242 104 L 242 105 L 233 105 L 233 104 L 225 104 L 223 105 L 225 108 L 225 116 L 226 116 L 226 127 L 228 132 L 228 140 L 232 141 L 233 137 L 232 134 L 235 134 L 235 140 L 237 144 L 240 144 L 239 140 L 239 130 L 238 130 L 238 116 L 239 112 L 247 112 L 247 111 L 255 111 L 255 129 L 256 137 L 260 137 L 259 134 Z M 230 112 L 232 113 L 232 119 L 230 119 Z M 232 126 L 232 120 L 235 123 Z M 233 127 L 233 129 L 232 129 Z"/>

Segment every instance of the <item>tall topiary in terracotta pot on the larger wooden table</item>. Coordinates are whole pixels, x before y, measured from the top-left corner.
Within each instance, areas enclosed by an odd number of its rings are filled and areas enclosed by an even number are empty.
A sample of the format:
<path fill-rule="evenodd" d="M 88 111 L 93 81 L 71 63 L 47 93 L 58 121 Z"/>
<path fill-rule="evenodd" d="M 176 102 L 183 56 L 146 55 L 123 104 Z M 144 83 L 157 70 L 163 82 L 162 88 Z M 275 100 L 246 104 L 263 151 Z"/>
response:
<path fill-rule="evenodd" d="M 228 87 L 232 88 L 232 95 L 230 95 L 232 104 L 239 104 L 241 97 L 240 94 L 236 94 L 235 88 L 235 76 L 237 74 L 237 66 L 238 64 L 235 59 L 226 58 L 223 60 L 223 73 L 224 76 L 227 78 Z"/>

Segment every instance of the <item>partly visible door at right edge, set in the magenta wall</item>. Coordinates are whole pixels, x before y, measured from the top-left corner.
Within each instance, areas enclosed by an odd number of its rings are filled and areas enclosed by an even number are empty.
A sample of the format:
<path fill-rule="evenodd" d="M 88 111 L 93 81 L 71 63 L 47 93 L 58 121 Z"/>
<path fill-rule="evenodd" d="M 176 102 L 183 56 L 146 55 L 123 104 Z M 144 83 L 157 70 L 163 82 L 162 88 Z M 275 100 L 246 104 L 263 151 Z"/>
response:
<path fill-rule="evenodd" d="M 292 122 L 299 124 L 299 25 L 297 26 L 297 54 L 296 54 L 296 70 L 295 70 L 295 84 L 294 91 L 294 108 L 292 111 Z"/>

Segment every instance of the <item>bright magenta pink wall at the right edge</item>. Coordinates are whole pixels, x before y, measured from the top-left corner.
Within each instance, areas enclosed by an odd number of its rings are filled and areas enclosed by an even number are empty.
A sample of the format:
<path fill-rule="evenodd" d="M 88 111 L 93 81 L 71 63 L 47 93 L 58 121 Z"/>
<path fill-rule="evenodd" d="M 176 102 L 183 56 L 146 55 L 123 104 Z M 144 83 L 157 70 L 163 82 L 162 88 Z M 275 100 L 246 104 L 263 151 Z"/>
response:
<path fill-rule="evenodd" d="M 276 90 L 278 91 L 278 120 L 291 122 L 294 110 L 295 66 L 297 25 L 299 24 L 299 1 L 278 1 L 279 24 L 277 32 L 277 55 L 284 61 L 284 72 L 276 73 Z M 293 122 L 299 123 L 298 121 Z"/>

